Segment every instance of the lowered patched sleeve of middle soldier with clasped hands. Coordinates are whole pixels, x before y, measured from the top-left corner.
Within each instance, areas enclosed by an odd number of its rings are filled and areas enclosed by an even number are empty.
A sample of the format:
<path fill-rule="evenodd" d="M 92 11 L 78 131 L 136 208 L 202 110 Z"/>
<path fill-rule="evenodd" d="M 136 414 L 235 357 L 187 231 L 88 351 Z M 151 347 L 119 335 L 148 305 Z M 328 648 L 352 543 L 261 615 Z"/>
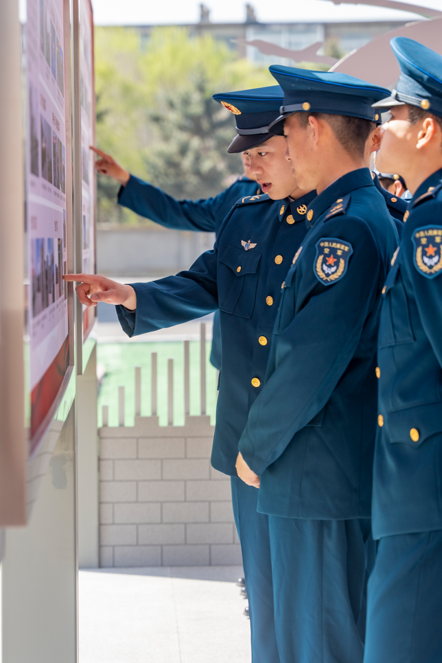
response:
<path fill-rule="evenodd" d="M 239 443 L 246 463 L 258 475 L 325 406 L 353 358 L 367 316 L 379 307 L 384 269 L 371 231 L 349 217 L 340 229 L 336 220 L 325 228 L 330 237 L 350 242 L 353 255 L 340 281 L 310 286 L 307 296 L 303 283 L 312 283 L 307 270 L 313 270 L 314 253 L 311 264 L 303 261 L 296 292 L 301 301 L 288 327 L 273 336 L 275 371 L 251 407 Z M 289 290 L 284 298 L 292 298 Z M 376 324 L 376 316 L 371 317 L 371 324 Z"/>

